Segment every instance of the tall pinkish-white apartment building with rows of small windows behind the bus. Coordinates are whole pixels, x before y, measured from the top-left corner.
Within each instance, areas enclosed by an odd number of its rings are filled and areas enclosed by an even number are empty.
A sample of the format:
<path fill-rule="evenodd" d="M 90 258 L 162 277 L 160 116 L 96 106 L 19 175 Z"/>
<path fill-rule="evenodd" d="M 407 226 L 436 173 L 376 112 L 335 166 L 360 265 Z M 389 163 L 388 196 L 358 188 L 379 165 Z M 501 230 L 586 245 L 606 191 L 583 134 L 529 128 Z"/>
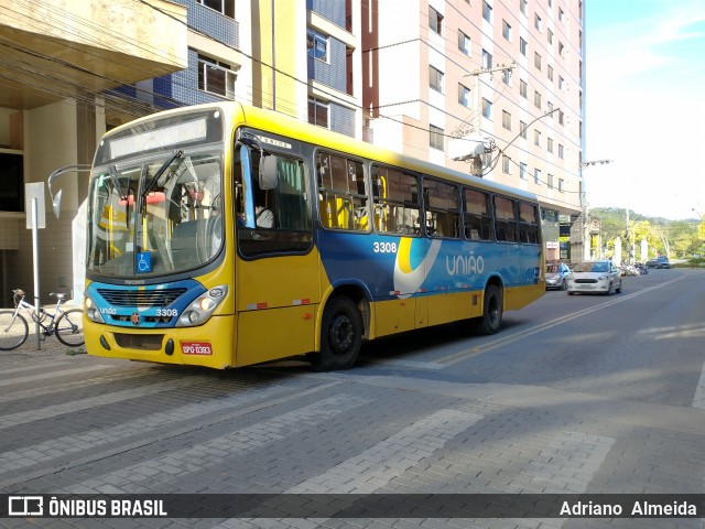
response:
<path fill-rule="evenodd" d="M 375 143 L 535 193 L 550 259 L 583 255 L 581 230 L 566 244 L 584 207 L 583 10 L 582 0 L 362 3 Z"/>

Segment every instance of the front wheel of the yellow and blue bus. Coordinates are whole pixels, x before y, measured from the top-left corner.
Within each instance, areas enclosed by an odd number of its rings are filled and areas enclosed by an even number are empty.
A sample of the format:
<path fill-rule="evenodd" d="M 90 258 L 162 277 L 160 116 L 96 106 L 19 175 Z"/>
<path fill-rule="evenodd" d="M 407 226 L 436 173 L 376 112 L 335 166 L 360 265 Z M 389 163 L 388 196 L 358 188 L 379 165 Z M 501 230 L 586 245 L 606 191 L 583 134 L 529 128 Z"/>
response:
<path fill-rule="evenodd" d="M 362 345 L 362 316 L 349 298 L 330 300 L 323 312 L 321 352 L 308 355 L 316 371 L 349 369 Z"/>

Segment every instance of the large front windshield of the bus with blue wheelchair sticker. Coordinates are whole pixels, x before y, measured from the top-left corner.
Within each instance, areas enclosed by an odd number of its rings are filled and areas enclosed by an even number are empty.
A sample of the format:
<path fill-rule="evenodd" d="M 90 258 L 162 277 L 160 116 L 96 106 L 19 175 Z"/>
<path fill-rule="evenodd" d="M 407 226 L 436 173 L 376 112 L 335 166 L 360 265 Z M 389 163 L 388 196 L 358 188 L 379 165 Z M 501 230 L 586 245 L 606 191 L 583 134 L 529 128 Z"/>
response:
<path fill-rule="evenodd" d="M 223 242 L 220 150 L 162 152 L 91 176 L 87 269 L 159 277 L 210 261 Z"/>

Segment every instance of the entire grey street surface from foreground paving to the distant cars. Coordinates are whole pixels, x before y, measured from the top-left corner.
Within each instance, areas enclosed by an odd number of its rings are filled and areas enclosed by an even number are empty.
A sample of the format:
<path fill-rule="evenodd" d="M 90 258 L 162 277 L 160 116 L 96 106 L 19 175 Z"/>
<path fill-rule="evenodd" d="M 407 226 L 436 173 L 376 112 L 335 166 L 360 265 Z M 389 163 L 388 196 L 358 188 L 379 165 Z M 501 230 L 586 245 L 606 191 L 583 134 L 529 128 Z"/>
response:
<path fill-rule="evenodd" d="M 7 494 L 704 494 L 705 271 L 547 292 L 496 336 L 369 344 L 356 368 L 230 371 L 0 353 Z M 192 506 L 185 506 L 186 510 Z M 195 512 L 195 510 L 194 510 Z M 441 515 L 442 516 L 442 515 Z M 197 515 L 194 518 L 200 518 Z M 0 527 L 683 527 L 702 518 L 6 518 Z"/>

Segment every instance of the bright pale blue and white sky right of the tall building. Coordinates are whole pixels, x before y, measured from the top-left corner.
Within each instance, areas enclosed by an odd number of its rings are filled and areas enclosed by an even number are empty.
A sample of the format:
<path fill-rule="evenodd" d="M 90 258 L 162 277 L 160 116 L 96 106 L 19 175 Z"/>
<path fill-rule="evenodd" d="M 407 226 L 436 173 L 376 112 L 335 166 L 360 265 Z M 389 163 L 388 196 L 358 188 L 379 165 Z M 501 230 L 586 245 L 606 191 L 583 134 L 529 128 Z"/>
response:
<path fill-rule="evenodd" d="M 610 160 L 583 170 L 588 208 L 705 215 L 705 0 L 585 10 L 585 161 Z"/>

